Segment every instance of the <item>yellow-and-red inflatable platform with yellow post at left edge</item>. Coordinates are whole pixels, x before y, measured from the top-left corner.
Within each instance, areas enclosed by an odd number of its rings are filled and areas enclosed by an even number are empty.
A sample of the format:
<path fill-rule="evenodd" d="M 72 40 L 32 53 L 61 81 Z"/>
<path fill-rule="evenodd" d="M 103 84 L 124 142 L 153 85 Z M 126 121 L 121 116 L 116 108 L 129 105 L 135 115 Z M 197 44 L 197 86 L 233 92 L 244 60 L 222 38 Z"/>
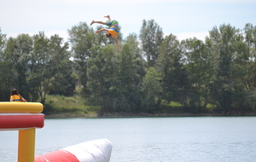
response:
<path fill-rule="evenodd" d="M 36 128 L 44 127 L 43 105 L 0 102 L 0 130 L 19 130 L 18 162 L 34 162 Z"/>

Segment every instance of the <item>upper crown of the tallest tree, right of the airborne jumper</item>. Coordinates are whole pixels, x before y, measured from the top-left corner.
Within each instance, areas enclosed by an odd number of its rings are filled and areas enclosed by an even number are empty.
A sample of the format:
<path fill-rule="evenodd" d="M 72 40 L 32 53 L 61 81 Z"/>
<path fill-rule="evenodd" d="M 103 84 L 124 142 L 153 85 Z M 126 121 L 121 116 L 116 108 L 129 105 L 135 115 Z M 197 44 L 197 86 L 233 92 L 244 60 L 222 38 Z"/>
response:
<path fill-rule="evenodd" d="M 155 66 L 163 35 L 162 29 L 154 20 L 143 20 L 140 40 L 142 42 L 144 55 L 147 57 L 148 67 Z"/>

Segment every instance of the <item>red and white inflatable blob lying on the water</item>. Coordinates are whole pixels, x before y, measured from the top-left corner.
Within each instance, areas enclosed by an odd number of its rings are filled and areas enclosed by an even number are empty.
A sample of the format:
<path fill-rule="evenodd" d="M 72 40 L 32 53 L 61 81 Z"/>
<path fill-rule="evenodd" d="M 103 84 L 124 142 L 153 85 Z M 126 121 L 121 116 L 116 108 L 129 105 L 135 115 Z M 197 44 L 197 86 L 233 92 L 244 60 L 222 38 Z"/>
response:
<path fill-rule="evenodd" d="M 83 142 L 37 156 L 35 162 L 109 162 L 112 144 L 107 139 Z"/>

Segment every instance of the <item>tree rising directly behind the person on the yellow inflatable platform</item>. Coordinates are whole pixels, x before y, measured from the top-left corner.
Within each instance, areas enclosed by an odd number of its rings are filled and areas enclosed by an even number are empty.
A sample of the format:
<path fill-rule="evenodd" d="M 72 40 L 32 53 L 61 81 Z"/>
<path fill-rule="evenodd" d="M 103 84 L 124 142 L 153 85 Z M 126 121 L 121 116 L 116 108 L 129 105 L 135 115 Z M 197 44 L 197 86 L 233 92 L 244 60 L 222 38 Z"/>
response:
<path fill-rule="evenodd" d="M 29 86 L 26 78 L 31 52 L 32 38 L 27 34 L 20 34 L 17 38 L 9 38 L 3 55 L 3 69 L 8 69 L 5 79 L 9 80 L 5 83 L 6 89 L 18 89 L 28 101 Z"/>

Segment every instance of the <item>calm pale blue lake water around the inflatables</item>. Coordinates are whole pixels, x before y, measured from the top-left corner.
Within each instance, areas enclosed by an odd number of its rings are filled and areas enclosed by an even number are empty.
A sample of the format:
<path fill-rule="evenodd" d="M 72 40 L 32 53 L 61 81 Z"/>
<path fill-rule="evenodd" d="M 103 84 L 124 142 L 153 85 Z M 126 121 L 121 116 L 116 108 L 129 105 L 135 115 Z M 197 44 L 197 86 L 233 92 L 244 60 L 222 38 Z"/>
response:
<path fill-rule="evenodd" d="M 36 156 L 106 138 L 111 162 L 250 162 L 256 117 L 45 119 Z M 0 131 L 0 162 L 17 159 L 18 131 Z"/>

